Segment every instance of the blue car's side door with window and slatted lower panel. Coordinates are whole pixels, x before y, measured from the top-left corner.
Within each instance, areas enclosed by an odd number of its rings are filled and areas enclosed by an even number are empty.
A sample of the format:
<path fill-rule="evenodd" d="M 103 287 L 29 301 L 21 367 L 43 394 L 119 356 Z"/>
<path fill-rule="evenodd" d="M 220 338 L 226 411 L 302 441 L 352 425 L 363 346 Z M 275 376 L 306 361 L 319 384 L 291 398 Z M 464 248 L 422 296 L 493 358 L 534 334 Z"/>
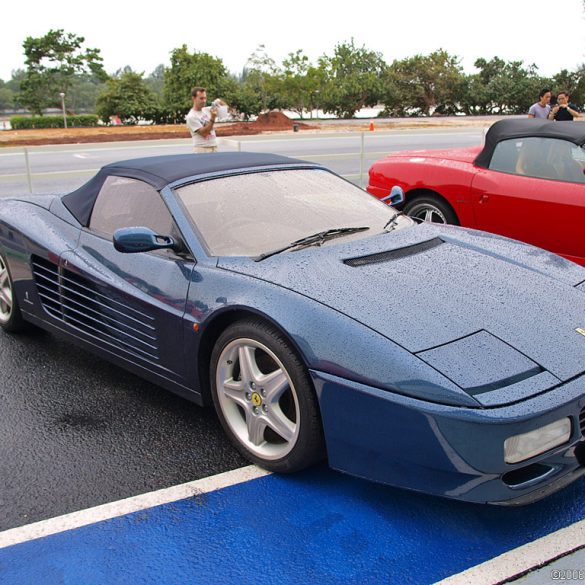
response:
<path fill-rule="evenodd" d="M 182 320 L 194 261 L 170 250 L 116 251 L 113 232 L 134 226 L 180 238 L 154 188 L 108 177 L 78 247 L 61 258 L 64 315 L 79 336 L 118 360 L 150 371 L 163 385 L 183 384 Z"/>

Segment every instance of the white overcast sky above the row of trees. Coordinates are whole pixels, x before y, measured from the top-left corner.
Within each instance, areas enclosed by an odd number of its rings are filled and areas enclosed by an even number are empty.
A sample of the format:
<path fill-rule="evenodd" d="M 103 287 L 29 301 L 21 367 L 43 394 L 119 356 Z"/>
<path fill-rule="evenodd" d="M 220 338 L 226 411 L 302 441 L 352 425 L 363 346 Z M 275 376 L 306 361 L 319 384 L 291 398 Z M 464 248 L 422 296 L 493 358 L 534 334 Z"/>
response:
<path fill-rule="evenodd" d="M 277 6 L 278 8 L 276 8 Z M 108 73 L 130 65 L 147 75 L 169 65 L 173 48 L 186 44 L 223 60 L 239 73 L 259 44 L 278 63 L 303 49 L 312 61 L 352 37 L 382 53 L 386 62 L 443 48 L 466 72 L 478 57 L 535 63 L 542 75 L 585 62 L 582 0 L 417 0 L 353 2 L 266 0 L 160 3 L 6 0 L 0 16 L 0 79 L 24 66 L 22 42 L 62 28 L 101 50 Z"/>

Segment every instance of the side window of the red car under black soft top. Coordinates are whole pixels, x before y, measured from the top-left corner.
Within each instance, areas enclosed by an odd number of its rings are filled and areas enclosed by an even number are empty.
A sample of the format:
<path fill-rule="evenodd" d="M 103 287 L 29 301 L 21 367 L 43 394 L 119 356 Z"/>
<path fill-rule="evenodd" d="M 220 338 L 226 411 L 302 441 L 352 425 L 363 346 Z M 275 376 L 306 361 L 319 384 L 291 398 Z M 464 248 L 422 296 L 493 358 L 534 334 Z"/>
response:
<path fill-rule="evenodd" d="M 490 169 L 554 181 L 585 183 L 583 152 L 568 140 L 522 138 L 496 145 Z"/>

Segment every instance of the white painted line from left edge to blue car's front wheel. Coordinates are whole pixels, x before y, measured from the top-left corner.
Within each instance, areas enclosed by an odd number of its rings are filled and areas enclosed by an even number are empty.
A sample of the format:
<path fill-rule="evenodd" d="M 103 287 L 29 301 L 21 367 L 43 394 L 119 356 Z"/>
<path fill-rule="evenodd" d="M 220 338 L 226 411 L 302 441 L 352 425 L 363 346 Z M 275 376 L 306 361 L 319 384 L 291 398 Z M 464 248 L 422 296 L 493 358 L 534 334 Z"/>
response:
<path fill-rule="evenodd" d="M 27 526 L 12 528 L 0 532 L 0 549 L 50 536 L 51 534 L 58 534 L 66 530 L 81 528 L 82 526 L 88 526 L 89 524 L 95 524 L 103 520 L 111 520 L 112 518 L 125 516 L 126 514 L 138 512 L 139 510 L 146 510 L 147 508 L 154 508 L 162 504 L 169 504 L 178 500 L 184 500 L 185 498 L 207 494 L 225 487 L 245 483 L 252 479 L 258 479 L 265 475 L 270 475 L 270 472 L 260 469 L 255 465 L 249 465 L 212 477 L 205 477 L 155 492 L 126 498 L 125 500 L 110 502 L 109 504 L 103 504 L 95 508 L 72 512 L 71 514 L 50 518 L 49 520 L 41 520 L 40 522 L 35 522 Z"/>

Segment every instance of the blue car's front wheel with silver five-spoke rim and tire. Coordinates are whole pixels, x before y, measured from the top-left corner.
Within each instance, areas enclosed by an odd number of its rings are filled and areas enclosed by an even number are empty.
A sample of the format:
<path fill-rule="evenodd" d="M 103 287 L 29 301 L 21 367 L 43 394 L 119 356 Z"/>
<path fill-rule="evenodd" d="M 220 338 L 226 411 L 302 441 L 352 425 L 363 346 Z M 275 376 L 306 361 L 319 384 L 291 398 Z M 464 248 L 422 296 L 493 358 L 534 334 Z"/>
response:
<path fill-rule="evenodd" d="M 239 321 L 211 354 L 211 394 L 236 448 L 269 471 L 300 471 L 325 455 L 313 384 L 286 339 L 261 320 Z"/>

